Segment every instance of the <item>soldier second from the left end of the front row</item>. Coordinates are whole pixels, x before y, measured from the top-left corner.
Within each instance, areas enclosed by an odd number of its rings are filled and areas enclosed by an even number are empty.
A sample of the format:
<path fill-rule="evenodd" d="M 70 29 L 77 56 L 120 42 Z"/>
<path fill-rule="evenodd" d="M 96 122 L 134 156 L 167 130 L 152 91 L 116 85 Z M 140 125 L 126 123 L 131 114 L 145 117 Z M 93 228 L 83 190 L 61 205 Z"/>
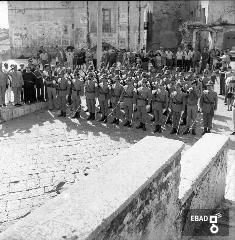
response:
<path fill-rule="evenodd" d="M 66 96 L 69 94 L 70 85 L 70 79 L 68 78 L 65 68 L 63 68 L 59 73 L 59 79 L 57 81 L 58 102 L 61 111 L 58 117 L 66 117 Z"/>

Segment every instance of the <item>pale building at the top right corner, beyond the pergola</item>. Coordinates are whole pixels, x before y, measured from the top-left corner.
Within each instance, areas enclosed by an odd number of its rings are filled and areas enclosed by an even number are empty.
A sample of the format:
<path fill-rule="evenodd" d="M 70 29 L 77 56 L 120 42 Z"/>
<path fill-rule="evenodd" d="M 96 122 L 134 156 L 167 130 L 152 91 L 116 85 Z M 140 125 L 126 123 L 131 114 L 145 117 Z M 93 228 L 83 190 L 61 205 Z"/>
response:
<path fill-rule="evenodd" d="M 208 24 L 214 25 L 215 32 L 210 36 L 211 47 L 231 49 L 235 46 L 235 1 L 209 0 Z"/>

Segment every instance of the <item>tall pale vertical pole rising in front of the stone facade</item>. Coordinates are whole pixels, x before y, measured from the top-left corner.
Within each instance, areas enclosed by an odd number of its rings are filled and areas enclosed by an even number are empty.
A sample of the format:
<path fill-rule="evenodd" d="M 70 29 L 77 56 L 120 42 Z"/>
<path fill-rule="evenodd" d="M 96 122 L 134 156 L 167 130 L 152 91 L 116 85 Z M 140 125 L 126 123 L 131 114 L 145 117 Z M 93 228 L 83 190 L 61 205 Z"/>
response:
<path fill-rule="evenodd" d="M 102 57 L 102 8 L 101 1 L 97 1 L 97 69 L 101 65 Z"/>

